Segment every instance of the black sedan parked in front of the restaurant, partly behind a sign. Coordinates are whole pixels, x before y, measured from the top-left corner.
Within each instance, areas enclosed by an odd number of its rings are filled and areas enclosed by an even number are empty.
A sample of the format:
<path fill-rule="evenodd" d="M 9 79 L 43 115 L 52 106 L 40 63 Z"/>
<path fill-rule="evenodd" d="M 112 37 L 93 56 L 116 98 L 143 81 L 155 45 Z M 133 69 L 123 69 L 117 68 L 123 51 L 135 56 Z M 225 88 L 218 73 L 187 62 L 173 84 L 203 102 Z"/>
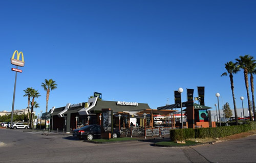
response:
<path fill-rule="evenodd" d="M 73 137 L 79 138 L 79 139 L 100 139 L 101 135 L 101 128 L 100 125 L 88 125 L 83 126 L 79 129 L 75 129 L 73 131 Z M 120 132 L 118 130 L 114 130 L 114 132 L 111 134 L 112 138 L 120 137 Z"/>

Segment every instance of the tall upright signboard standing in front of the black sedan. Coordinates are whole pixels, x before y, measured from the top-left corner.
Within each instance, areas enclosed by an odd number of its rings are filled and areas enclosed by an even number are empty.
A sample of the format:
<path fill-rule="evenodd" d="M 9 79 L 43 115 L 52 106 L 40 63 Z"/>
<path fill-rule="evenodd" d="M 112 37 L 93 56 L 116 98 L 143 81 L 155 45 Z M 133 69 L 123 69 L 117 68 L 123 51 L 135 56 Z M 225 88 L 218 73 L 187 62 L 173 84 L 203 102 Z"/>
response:
<path fill-rule="evenodd" d="M 113 131 L 113 125 L 112 125 L 112 116 L 113 116 L 112 110 L 106 110 L 102 108 L 102 131 L 103 132 L 112 132 Z"/>

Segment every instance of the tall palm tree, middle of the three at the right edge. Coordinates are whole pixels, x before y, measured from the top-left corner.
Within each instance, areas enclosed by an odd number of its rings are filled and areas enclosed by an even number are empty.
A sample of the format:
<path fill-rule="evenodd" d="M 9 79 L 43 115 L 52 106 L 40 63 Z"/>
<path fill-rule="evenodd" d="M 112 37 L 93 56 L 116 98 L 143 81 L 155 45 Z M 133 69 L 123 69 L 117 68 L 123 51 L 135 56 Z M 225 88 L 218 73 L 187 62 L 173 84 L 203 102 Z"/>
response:
<path fill-rule="evenodd" d="M 244 80 L 245 80 L 245 88 L 247 92 L 249 115 L 250 115 L 250 121 L 252 121 L 250 95 L 249 95 L 249 83 L 248 83 L 248 69 L 249 69 L 249 65 L 251 65 L 251 63 L 255 60 L 253 60 L 253 57 L 249 55 L 245 55 L 245 56 L 239 56 L 239 59 L 236 59 L 236 61 L 237 61 L 238 67 L 244 70 Z"/>

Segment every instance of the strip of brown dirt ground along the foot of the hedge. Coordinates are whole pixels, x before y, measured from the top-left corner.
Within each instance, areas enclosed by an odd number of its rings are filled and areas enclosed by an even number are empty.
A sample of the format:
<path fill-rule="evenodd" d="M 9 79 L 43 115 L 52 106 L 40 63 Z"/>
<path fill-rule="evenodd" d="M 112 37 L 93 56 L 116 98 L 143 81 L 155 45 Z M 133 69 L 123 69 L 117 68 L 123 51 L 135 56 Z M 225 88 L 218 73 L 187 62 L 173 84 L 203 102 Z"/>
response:
<path fill-rule="evenodd" d="M 207 143 L 207 142 L 217 142 L 217 141 L 228 141 L 228 140 L 234 140 L 234 139 L 240 139 L 244 137 L 248 137 L 250 135 L 256 134 L 256 130 L 248 131 L 248 132 L 242 132 L 238 134 L 233 134 L 228 137 L 223 138 L 205 138 L 205 139 L 189 139 L 191 141 L 198 141 L 199 143 Z"/>

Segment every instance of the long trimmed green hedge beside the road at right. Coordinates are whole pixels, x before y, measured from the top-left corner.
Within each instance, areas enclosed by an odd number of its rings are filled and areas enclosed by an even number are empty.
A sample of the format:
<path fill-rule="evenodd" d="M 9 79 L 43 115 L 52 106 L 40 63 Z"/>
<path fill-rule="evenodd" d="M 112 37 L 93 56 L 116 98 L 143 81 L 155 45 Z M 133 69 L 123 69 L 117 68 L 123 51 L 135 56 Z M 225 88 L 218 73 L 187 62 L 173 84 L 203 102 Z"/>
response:
<path fill-rule="evenodd" d="M 170 140 L 183 141 L 190 138 L 220 138 L 232 134 L 256 129 L 256 122 L 250 121 L 244 125 L 222 126 L 214 128 L 184 128 L 170 130 Z"/>

